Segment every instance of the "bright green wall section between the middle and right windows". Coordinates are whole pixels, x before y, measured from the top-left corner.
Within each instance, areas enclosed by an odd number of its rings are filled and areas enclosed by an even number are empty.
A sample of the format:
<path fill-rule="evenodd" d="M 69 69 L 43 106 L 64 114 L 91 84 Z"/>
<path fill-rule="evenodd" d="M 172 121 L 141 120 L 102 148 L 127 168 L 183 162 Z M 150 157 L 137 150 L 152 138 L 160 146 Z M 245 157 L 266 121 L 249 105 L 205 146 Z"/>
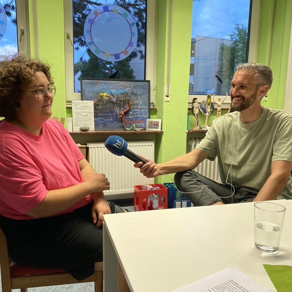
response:
<path fill-rule="evenodd" d="M 168 72 L 169 0 L 157 4 L 157 118 L 162 119 L 163 135 L 156 137 L 157 162 L 185 154 L 187 105 L 190 72 L 192 1 L 173 0 L 171 26 L 170 101 L 164 101 Z M 171 182 L 159 176 L 157 183 Z"/>

